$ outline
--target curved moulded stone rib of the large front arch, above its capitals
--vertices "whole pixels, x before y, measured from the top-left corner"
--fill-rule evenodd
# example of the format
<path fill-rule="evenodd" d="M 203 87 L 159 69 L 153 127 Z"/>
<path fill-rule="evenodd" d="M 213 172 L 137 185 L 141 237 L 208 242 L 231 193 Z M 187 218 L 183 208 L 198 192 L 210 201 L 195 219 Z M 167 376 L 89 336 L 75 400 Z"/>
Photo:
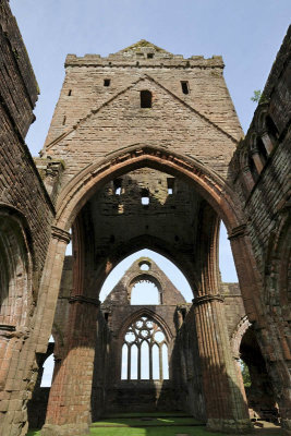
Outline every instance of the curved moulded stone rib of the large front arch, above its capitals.
<path fill-rule="evenodd" d="M 216 209 L 228 230 L 242 223 L 239 202 L 227 182 L 196 159 L 171 150 L 134 145 L 110 154 L 74 177 L 57 203 L 56 226 L 69 230 L 77 213 L 98 186 L 136 168 L 149 167 L 179 175 L 194 183 L 197 192 Z"/>

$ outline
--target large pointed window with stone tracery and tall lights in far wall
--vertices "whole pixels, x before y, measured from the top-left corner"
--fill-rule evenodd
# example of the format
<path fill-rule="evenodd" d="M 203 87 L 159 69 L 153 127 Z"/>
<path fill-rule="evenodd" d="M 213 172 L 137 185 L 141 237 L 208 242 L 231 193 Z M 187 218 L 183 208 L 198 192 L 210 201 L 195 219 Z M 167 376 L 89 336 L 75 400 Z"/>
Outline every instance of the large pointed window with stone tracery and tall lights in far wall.
<path fill-rule="evenodd" d="M 169 379 L 167 338 L 161 327 L 148 316 L 133 322 L 124 335 L 121 379 Z"/>

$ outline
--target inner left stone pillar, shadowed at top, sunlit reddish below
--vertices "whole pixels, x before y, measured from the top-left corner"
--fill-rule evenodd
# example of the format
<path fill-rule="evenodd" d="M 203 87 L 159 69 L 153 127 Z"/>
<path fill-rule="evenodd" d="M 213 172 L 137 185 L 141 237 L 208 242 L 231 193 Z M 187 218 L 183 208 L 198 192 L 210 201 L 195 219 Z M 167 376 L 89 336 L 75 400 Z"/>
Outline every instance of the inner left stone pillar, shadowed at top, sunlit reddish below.
<path fill-rule="evenodd" d="M 76 436 L 89 431 L 90 396 L 99 300 L 70 300 L 66 352 L 54 372 L 41 436 Z"/>

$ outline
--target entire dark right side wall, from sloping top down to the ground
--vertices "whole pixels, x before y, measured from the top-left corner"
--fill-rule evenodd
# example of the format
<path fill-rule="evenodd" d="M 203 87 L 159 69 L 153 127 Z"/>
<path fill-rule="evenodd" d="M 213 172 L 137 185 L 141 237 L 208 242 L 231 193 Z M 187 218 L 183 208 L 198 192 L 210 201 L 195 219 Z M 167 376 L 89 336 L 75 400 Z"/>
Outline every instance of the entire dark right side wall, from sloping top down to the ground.
<path fill-rule="evenodd" d="M 230 165 L 245 214 L 262 287 L 254 328 L 272 387 L 291 428 L 290 145 L 291 27 L 270 71 L 253 121 Z"/>

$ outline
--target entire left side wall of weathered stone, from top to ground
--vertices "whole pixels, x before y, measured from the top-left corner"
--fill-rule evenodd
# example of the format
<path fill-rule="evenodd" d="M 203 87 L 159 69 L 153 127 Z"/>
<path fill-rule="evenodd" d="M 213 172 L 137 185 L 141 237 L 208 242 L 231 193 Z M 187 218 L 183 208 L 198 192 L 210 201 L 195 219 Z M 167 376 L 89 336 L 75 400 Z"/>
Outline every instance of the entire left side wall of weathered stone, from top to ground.
<path fill-rule="evenodd" d="M 35 308 L 54 209 L 24 142 L 37 83 L 5 0 L 0 11 L 0 434 L 9 436 L 27 429 Z"/>

